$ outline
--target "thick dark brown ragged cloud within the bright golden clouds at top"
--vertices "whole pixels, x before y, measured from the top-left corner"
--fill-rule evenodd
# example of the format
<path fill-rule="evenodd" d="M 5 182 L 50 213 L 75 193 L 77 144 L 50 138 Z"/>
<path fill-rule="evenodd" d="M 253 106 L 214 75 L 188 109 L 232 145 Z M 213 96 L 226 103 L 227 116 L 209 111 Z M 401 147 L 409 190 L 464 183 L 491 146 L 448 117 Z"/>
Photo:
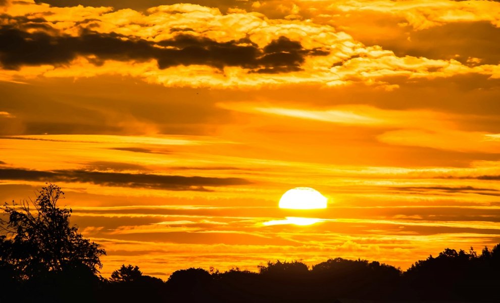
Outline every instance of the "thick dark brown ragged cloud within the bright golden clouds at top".
<path fill-rule="evenodd" d="M 28 33 L 12 27 L 0 28 L 0 63 L 6 69 L 23 65 L 68 64 L 77 56 L 103 60 L 146 61 L 155 59 L 160 69 L 177 65 L 208 65 L 215 68 L 239 66 L 258 73 L 301 70 L 306 56 L 323 56 L 321 49 L 304 49 L 302 44 L 280 37 L 263 49 L 249 39 L 217 42 L 180 34 L 158 43 L 125 39 L 110 33 L 84 31 L 79 37 Z"/>

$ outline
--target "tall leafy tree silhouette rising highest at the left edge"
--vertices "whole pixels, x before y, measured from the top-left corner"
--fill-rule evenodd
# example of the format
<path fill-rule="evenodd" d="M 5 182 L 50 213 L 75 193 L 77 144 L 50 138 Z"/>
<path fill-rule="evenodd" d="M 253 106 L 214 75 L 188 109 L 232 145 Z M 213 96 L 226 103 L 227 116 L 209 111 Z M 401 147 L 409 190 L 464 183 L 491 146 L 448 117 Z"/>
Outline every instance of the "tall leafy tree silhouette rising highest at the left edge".
<path fill-rule="evenodd" d="M 8 219 L 0 219 L 0 264 L 9 265 L 18 279 L 71 269 L 95 274 L 102 268 L 99 257 L 106 251 L 70 225 L 72 210 L 56 205 L 63 195 L 59 186 L 48 184 L 35 200 L 1 208 Z"/>

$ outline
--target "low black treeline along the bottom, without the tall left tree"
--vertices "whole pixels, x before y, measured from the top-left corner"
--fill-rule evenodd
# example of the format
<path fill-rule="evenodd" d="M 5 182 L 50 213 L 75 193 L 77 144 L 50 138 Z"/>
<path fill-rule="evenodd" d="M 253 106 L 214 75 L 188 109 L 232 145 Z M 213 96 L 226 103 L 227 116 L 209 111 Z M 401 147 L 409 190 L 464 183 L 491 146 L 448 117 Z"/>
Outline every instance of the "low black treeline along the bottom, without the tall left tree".
<path fill-rule="evenodd" d="M 500 245 L 474 251 L 445 249 L 406 272 L 366 260 L 330 259 L 308 268 L 302 262 L 269 262 L 259 272 L 189 268 L 163 280 L 132 265 L 111 278 L 69 268 L 27 280 L 0 269 L 2 302 L 498 302 Z"/>

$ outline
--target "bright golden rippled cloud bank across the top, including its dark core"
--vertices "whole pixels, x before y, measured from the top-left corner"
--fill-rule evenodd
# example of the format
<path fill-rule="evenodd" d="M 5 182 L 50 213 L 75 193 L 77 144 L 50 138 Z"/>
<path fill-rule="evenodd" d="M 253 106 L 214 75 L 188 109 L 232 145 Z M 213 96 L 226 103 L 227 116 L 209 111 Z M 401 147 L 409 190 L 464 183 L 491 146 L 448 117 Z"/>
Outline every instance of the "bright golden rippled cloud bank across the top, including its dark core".
<path fill-rule="evenodd" d="M 309 12 L 306 15 L 310 14 L 312 19 L 302 20 L 269 19 L 244 10 L 228 10 L 223 14 L 217 8 L 192 4 L 138 12 L 16 2 L 2 15 L 3 40 L 14 43 L 0 47 L 3 53 L 0 62 L 4 64 L 0 79 L 22 82 L 37 76 L 118 74 L 165 86 L 252 87 L 293 83 L 338 86 L 362 82 L 394 90 L 399 85 L 390 83 L 390 78 L 396 76 L 500 77 L 498 66 L 484 64 L 488 60 L 468 57 L 461 60 L 465 62 L 462 64 L 448 59 L 449 56 L 444 56 L 446 60 L 397 57 L 391 49 L 365 46 L 346 32 L 336 30 L 335 24 L 313 18 L 319 9 L 344 16 L 357 11 L 360 5 L 342 1 L 338 4 L 320 2 L 314 14 L 313 7 L 305 8 L 304 12 Z M 287 3 L 285 6 L 291 10 L 284 11 L 297 15 L 303 9 L 296 8 L 302 5 Z M 409 9 L 399 6 L 398 3 L 397 13 Z M 416 1 L 410 8 L 419 6 L 428 9 L 429 4 Z M 386 7 L 378 2 L 362 9 L 387 13 Z"/>

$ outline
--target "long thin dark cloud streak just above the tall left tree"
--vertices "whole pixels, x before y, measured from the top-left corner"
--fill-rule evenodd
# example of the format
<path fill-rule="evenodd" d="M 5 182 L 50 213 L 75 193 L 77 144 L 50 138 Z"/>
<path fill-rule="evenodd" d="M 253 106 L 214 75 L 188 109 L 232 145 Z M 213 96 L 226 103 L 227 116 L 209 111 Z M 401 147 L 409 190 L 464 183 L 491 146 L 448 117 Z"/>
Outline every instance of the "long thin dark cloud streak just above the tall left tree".
<path fill-rule="evenodd" d="M 37 171 L 26 169 L 0 169 L 0 180 L 80 182 L 104 186 L 195 191 L 207 191 L 203 186 L 244 185 L 250 183 L 248 180 L 241 178 L 185 177 L 85 170 Z"/>

